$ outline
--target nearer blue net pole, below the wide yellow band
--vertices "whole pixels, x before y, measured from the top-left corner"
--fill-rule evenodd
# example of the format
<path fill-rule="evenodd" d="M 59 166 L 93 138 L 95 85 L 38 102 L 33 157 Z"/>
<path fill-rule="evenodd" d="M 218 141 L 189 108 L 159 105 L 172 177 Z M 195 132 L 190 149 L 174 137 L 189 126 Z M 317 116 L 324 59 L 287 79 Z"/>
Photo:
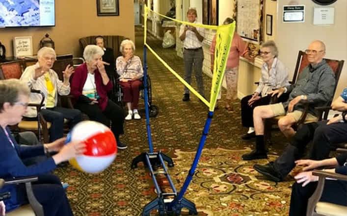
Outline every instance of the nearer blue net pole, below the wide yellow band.
<path fill-rule="evenodd" d="M 211 124 L 211 121 L 212 121 L 213 114 L 214 114 L 213 111 L 209 111 L 207 120 L 205 122 L 203 134 L 202 134 L 202 136 L 200 138 L 200 143 L 199 143 L 198 149 L 196 150 L 196 154 L 195 154 L 195 158 L 194 158 L 193 164 L 191 165 L 191 168 L 190 168 L 190 170 L 188 172 L 186 181 L 183 184 L 180 193 L 176 196 L 175 200 L 172 201 L 172 203 L 171 203 L 172 205 L 175 205 L 175 204 L 177 204 L 177 202 L 180 202 L 182 200 L 183 195 L 187 191 L 187 188 L 188 188 L 188 186 L 190 184 L 190 181 L 193 178 L 196 166 L 199 163 L 199 159 L 200 159 L 200 156 L 201 156 L 201 153 L 202 153 L 202 149 L 204 148 L 204 145 L 205 145 L 205 142 L 206 142 L 207 134 L 209 133 L 210 124 Z"/>

